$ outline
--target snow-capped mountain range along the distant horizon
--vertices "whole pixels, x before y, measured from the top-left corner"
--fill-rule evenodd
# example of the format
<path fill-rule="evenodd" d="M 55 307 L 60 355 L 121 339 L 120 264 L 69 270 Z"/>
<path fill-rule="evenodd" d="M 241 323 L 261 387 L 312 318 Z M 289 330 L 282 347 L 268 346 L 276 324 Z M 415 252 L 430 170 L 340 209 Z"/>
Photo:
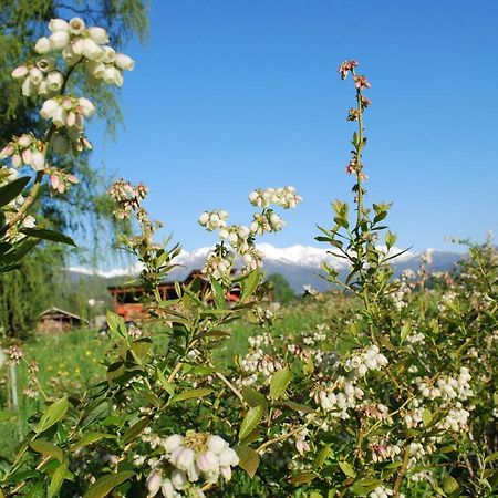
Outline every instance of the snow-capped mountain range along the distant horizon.
<path fill-rule="evenodd" d="M 291 246 L 287 248 L 277 248 L 270 243 L 261 243 L 257 246 L 262 255 L 263 268 L 267 274 L 281 273 L 295 292 L 301 292 L 304 284 L 310 284 L 318 290 L 325 290 L 330 287 L 329 282 L 323 280 L 320 274 L 320 269 L 323 261 L 338 270 L 340 273 L 345 273 L 347 270 L 346 262 L 338 258 L 326 249 L 310 247 L 310 246 Z M 206 255 L 209 248 L 204 247 L 193 251 L 181 251 L 176 258 L 175 262 L 178 268 L 173 270 L 170 278 L 175 280 L 184 279 L 191 270 L 203 268 Z M 393 253 L 400 252 L 394 249 Z M 428 250 L 432 256 L 432 263 L 429 268 L 436 270 L 449 270 L 453 266 L 465 257 L 458 252 L 443 252 L 436 250 Z M 406 251 L 400 257 L 392 260 L 395 272 L 398 273 L 405 269 L 416 270 L 421 263 L 422 252 Z M 115 279 L 118 277 L 133 277 L 139 272 L 139 266 L 128 268 L 115 268 L 112 270 L 100 271 L 91 270 L 84 267 L 72 267 L 70 271 L 73 274 L 98 274 L 105 279 Z"/>

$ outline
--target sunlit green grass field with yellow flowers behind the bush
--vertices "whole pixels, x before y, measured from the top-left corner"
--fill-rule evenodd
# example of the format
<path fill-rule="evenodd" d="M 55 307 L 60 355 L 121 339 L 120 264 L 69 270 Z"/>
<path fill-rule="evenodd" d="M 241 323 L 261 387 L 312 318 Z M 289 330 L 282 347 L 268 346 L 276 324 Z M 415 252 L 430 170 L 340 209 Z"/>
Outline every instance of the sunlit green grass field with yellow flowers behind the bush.
<path fill-rule="evenodd" d="M 272 332 L 291 336 L 293 333 L 311 330 L 323 321 L 333 320 L 334 307 L 320 302 L 313 303 L 315 312 L 310 313 L 310 303 L 295 301 L 282 307 L 274 322 Z M 231 336 L 225 340 L 219 349 L 217 361 L 229 365 L 236 355 L 243 355 L 247 351 L 247 339 L 261 333 L 258 325 L 248 322 L 237 322 L 230 328 Z M 167 347 L 167 342 L 160 332 L 152 332 L 155 347 Z M 59 398 L 63 394 L 75 395 L 86 387 L 105 378 L 106 366 L 104 360 L 113 355 L 113 341 L 101 336 L 95 329 L 77 329 L 64 334 L 33 335 L 22 344 L 25 362 L 15 367 L 18 376 L 19 414 L 14 419 L 0 422 L 0 458 L 8 458 L 13 454 L 20 435 L 29 432 L 29 418 L 41 408 L 39 398 L 31 398 L 23 394 L 29 383 L 28 363 L 37 361 L 43 392 L 50 398 Z M 0 412 L 11 412 L 8 392 L 9 367 L 3 366 L 0 372 Z"/>

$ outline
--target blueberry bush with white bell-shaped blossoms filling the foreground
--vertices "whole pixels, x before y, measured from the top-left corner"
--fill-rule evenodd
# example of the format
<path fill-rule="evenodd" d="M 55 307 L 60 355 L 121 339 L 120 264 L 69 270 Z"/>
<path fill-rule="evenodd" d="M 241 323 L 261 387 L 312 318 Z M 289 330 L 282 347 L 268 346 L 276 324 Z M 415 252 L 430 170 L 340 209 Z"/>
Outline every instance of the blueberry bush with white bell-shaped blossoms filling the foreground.
<path fill-rule="evenodd" d="M 91 81 L 121 85 L 121 71 L 133 68 L 129 58 L 106 45 L 100 28 L 87 29 L 81 19 L 53 20 L 49 28 L 52 34 L 35 50 L 61 52 L 66 76 L 84 64 Z M 283 187 L 249 195 L 258 210 L 247 225 L 229 225 L 225 210 L 203 212 L 199 225 L 216 231 L 218 240 L 201 274 L 177 284 L 174 299 L 165 300 L 159 283 L 180 248 L 155 240 L 162 225 L 143 207 L 147 188 L 116 181 L 108 190 L 115 216 L 134 220 L 138 229 L 121 242 L 142 263 L 149 321 L 144 330 L 128 329 L 108 313 L 105 381 L 80 396 L 48 400 L 13 461 L 1 469 L 4 492 L 86 498 L 111 492 L 166 498 L 496 494 L 497 251 L 490 243 L 471 246 L 454 274 L 429 274 L 427 255 L 417 273 L 394 278 L 390 261 L 400 252 L 384 225 L 390 205 L 365 203 L 364 112 L 371 102 L 363 92 L 371 84 L 356 74 L 357 66 L 346 61 L 339 69 L 343 80 L 351 74 L 356 93 L 356 106 L 347 113 L 357 129 L 346 166 L 354 178 L 355 214 L 335 200 L 333 226 L 320 228 L 317 238 L 349 262 L 344 281 L 323 266 L 345 298 L 309 292 L 308 302 L 292 312 L 317 317 L 317 323 L 298 333 L 274 332 L 280 310 L 264 297 L 255 241 L 282 229 L 276 209 L 301 201 L 294 188 Z M 14 167 L 32 167 L 38 184 L 50 172 L 52 188 L 63 191 L 74 179 L 51 170 L 40 154 L 50 144 L 59 152 L 87 147 L 84 117 L 94 108 L 84 97 L 63 95 L 66 76 L 58 86 L 54 68 L 45 61 L 14 71 L 14 77 L 24 79 L 24 93 L 50 96 L 41 113 L 51 126 L 44 141 L 23 135 L 2 155 L 11 156 Z M 15 224 L 25 222 L 22 206 Z M 4 231 L 11 240 L 25 231 L 13 227 Z M 258 332 L 245 354 L 222 361 L 237 323 Z M 11 362 L 21 357 L 19 351 L 8 354 Z M 30 388 L 39 388 L 34 366 Z"/>

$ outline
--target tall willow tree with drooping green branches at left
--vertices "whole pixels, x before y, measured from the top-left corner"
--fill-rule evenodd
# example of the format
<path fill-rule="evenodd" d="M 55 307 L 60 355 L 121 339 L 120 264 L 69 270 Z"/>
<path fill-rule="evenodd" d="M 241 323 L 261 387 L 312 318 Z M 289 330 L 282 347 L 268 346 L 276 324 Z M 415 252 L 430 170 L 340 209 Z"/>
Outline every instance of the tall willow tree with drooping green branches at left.
<path fill-rule="evenodd" d="M 147 0 L 2 0 L 0 9 L 0 146 L 12 136 L 29 129 L 42 133 L 43 124 L 37 112 L 35 97 L 21 94 L 19 81 L 10 77 L 19 61 L 34 55 L 30 48 L 53 18 L 82 17 L 89 23 L 101 25 L 110 33 L 113 46 L 122 48 L 132 38 L 141 42 L 148 33 Z M 75 77 L 72 81 L 86 81 Z M 76 90 L 76 89 L 73 89 Z M 90 95 L 103 111 L 108 135 L 122 122 L 118 110 L 118 90 L 108 85 L 86 85 L 79 89 Z M 1 147 L 0 147 L 1 148 Z M 110 179 L 90 164 L 90 153 L 49 158 L 56 166 L 74 174 L 79 188 L 63 197 L 42 195 L 37 205 L 37 219 L 50 219 L 51 228 L 73 234 L 85 234 L 86 242 L 95 243 L 102 234 L 114 231 L 111 208 L 104 196 Z M 82 251 L 80 251 L 82 253 Z M 0 330 L 7 335 L 29 331 L 38 313 L 54 304 L 61 288 L 62 267 L 68 250 L 45 245 L 28 257 L 19 270 L 0 276 Z M 24 304 L 21 304 L 24 303 Z M 28 304 L 27 304 L 28 303 Z"/>

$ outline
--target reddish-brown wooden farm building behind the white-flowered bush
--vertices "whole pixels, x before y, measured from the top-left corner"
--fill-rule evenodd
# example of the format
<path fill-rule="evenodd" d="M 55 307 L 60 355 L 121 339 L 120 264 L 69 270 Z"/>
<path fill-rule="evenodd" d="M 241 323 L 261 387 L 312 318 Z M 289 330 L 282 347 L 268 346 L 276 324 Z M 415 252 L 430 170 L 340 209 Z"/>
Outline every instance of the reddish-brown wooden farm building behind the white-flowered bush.
<path fill-rule="evenodd" d="M 203 292 L 206 292 L 209 288 L 207 279 L 203 276 L 200 270 L 193 270 L 186 277 L 183 284 L 189 284 L 194 280 L 198 279 Z M 177 293 L 175 289 L 176 281 L 164 281 L 159 284 L 159 293 L 163 300 L 176 299 Z M 113 301 L 114 312 L 122 315 L 125 320 L 139 319 L 144 314 L 144 308 L 142 305 L 142 298 L 144 295 L 144 288 L 142 284 L 128 284 L 128 286 L 112 286 L 107 288 Z M 240 290 L 234 289 L 227 293 L 227 302 L 235 302 L 239 300 Z"/>

